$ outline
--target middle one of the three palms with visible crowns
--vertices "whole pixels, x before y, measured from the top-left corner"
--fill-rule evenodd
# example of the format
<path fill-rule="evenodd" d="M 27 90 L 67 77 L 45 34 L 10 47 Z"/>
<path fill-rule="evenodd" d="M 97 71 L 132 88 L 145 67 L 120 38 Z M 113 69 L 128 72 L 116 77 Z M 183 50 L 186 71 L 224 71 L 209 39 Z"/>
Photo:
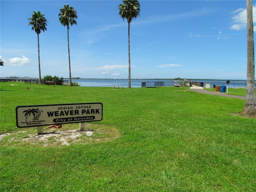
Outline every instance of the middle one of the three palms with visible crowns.
<path fill-rule="evenodd" d="M 68 29 L 68 64 L 69 64 L 69 86 L 72 86 L 71 82 L 71 66 L 70 66 L 70 51 L 69 51 L 69 25 L 76 24 L 76 10 L 70 7 L 68 4 L 64 5 L 64 8 L 60 9 L 59 20 L 63 26 L 67 26 Z"/>

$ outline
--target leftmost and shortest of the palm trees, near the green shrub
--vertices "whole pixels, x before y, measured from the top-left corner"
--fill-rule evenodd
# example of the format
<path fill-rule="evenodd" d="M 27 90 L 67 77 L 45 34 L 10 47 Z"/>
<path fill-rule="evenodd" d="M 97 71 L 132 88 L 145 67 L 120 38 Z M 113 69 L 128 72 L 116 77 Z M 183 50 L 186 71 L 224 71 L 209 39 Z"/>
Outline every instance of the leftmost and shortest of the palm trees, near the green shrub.
<path fill-rule="evenodd" d="M 34 11 L 31 18 L 28 18 L 28 25 L 32 25 L 32 30 L 35 30 L 37 34 L 37 44 L 38 44 L 38 68 L 39 68 L 39 82 L 38 84 L 42 84 L 41 79 L 41 69 L 40 69 L 40 51 L 39 51 L 39 34 L 41 30 L 44 32 L 47 30 L 47 20 L 40 11 Z"/>

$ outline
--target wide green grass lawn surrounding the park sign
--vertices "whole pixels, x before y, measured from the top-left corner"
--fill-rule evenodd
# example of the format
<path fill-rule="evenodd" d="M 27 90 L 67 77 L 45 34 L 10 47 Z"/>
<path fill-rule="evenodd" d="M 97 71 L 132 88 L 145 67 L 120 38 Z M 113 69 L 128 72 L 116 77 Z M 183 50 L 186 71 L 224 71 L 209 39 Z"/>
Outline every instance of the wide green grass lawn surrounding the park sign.
<path fill-rule="evenodd" d="M 86 123 L 94 134 L 69 145 L 36 140 L 36 127 L 16 127 L 17 106 L 89 102 L 102 102 L 103 120 Z M 187 87 L 1 82 L 0 105 L 1 192 L 256 190 L 256 119 L 239 116 L 244 100 Z M 56 131 L 74 129 L 79 124 Z M 26 140 L 31 134 L 36 142 Z"/>

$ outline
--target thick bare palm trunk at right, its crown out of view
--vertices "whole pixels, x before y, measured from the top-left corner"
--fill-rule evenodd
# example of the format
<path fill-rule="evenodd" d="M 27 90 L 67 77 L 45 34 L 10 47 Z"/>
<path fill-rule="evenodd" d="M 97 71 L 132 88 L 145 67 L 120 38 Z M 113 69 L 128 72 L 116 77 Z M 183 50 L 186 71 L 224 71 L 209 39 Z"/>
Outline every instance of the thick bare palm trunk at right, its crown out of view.
<path fill-rule="evenodd" d="M 246 10 L 247 10 L 247 89 L 246 89 L 246 102 L 242 110 L 242 115 L 256 118 L 252 0 L 246 0 Z"/>

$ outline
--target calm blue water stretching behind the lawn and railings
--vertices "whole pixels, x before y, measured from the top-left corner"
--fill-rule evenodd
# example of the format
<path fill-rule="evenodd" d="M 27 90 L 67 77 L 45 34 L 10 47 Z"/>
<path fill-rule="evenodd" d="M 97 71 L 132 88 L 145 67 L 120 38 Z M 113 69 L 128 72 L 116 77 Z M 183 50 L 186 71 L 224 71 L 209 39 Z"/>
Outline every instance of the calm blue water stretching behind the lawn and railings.
<path fill-rule="evenodd" d="M 69 79 L 64 79 L 68 81 Z M 189 80 L 187 80 L 189 81 Z M 226 80 L 193 80 L 194 82 L 203 82 L 204 87 L 206 84 L 210 84 L 210 87 L 216 86 L 226 86 Z M 77 82 L 83 87 L 113 87 L 114 85 L 123 85 L 127 88 L 128 79 L 72 79 L 72 82 Z M 131 87 L 139 88 L 142 87 L 142 82 L 164 82 L 164 86 L 173 86 L 177 84 L 178 81 L 174 80 L 154 80 L 154 79 L 131 79 Z M 230 86 L 232 84 L 246 84 L 246 80 L 230 80 Z"/>

